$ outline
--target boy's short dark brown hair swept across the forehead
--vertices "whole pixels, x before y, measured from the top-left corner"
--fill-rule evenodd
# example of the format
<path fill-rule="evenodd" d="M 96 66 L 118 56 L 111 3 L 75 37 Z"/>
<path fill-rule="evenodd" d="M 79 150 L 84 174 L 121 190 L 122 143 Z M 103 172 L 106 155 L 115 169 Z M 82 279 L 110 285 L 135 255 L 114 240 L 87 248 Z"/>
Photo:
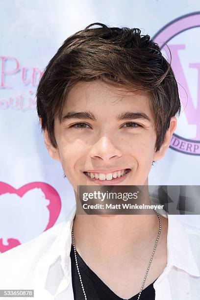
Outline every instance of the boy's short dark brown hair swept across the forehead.
<path fill-rule="evenodd" d="M 90 28 L 92 25 L 101 27 Z M 93 23 L 68 37 L 47 65 L 37 88 L 37 112 L 56 148 L 54 119 L 61 122 L 67 93 L 78 81 L 100 79 L 147 91 L 159 150 L 171 117 L 180 114 L 178 87 L 171 64 L 159 46 L 139 28 Z"/>

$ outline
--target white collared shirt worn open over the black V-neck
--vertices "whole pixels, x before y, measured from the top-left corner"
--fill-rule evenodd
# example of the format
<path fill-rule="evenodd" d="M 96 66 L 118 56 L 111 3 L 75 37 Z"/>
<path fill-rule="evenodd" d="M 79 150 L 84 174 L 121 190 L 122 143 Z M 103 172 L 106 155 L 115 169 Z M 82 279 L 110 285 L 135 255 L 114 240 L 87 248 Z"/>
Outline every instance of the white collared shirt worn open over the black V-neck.
<path fill-rule="evenodd" d="M 66 221 L 0 254 L 0 289 L 33 289 L 34 300 L 74 300 L 70 251 L 75 212 L 76 205 Z M 200 300 L 200 229 L 174 215 L 163 216 L 168 218 L 167 266 L 153 284 L 155 300 Z"/>

